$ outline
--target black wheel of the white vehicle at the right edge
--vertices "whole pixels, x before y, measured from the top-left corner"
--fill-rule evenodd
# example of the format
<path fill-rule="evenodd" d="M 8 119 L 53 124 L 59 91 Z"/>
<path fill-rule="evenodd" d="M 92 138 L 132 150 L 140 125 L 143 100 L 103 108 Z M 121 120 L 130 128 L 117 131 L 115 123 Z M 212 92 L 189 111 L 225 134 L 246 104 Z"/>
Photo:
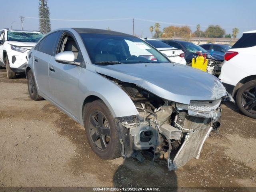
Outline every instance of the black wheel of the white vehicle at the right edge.
<path fill-rule="evenodd" d="M 236 103 L 243 114 L 256 119 L 256 80 L 249 81 L 239 88 Z"/>

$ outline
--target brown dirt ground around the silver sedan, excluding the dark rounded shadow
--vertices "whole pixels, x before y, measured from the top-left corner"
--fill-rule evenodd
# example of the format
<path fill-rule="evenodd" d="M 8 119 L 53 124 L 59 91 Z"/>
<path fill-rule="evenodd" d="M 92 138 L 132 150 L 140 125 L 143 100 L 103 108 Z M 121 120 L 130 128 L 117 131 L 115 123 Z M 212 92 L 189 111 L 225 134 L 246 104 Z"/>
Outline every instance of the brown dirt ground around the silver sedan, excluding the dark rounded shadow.
<path fill-rule="evenodd" d="M 100 159 L 84 128 L 50 102 L 31 100 L 26 82 L 0 70 L 0 186 L 256 187 L 256 120 L 235 104 L 222 105 L 222 127 L 210 134 L 200 159 L 170 172 L 164 160 L 151 166 L 151 158 Z"/>

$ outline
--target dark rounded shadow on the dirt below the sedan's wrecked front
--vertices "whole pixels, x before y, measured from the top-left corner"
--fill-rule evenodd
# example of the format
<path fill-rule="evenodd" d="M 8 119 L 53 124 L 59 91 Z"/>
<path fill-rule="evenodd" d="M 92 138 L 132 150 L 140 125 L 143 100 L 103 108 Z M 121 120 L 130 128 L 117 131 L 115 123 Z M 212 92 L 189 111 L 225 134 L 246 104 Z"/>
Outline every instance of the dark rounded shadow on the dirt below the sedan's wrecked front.
<path fill-rule="evenodd" d="M 164 160 L 155 160 L 152 165 L 151 158 L 146 158 L 144 162 L 126 158 L 114 172 L 113 184 L 114 187 L 121 188 L 142 187 L 142 190 L 152 188 L 152 191 L 153 188 L 160 188 L 160 191 L 176 192 L 178 188 L 175 171 L 168 171 Z"/>

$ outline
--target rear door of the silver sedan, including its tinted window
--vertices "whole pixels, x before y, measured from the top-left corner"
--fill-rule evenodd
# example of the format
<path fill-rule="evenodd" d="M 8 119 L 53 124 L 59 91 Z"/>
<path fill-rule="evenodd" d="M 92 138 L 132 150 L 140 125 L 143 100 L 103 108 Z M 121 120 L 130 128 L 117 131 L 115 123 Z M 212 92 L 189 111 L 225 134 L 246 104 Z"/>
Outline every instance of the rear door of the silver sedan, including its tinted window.
<path fill-rule="evenodd" d="M 33 56 L 34 60 L 34 76 L 38 90 L 42 93 L 42 96 L 50 98 L 50 87 L 49 87 L 49 62 L 54 54 L 56 42 L 60 37 L 60 32 L 54 32 L 42 40 L 40 40 L 38 50 Z M 35 48 L 36 49 L 36 48 Z"/>

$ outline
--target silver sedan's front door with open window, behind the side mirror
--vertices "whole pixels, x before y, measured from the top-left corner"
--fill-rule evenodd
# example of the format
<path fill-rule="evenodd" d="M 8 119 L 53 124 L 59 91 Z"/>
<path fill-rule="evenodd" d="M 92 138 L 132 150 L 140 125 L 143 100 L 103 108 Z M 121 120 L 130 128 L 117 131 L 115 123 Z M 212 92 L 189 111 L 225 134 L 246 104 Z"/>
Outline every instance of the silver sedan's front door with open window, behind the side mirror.
<path fill-rule="evenodd" d="M 60 38 L 56 54 L 64 51 L 72 51 L 75 54 L 75 62 L 82 62 L 82 54 L 74 36 L 64 32 Z M 78 118 L 79 107 L 77 94 L 81 67 L 73 64 L 56 62 L 54 57 L 49 65 L 49 80 L 52 100 L 69 114 Z"/>

